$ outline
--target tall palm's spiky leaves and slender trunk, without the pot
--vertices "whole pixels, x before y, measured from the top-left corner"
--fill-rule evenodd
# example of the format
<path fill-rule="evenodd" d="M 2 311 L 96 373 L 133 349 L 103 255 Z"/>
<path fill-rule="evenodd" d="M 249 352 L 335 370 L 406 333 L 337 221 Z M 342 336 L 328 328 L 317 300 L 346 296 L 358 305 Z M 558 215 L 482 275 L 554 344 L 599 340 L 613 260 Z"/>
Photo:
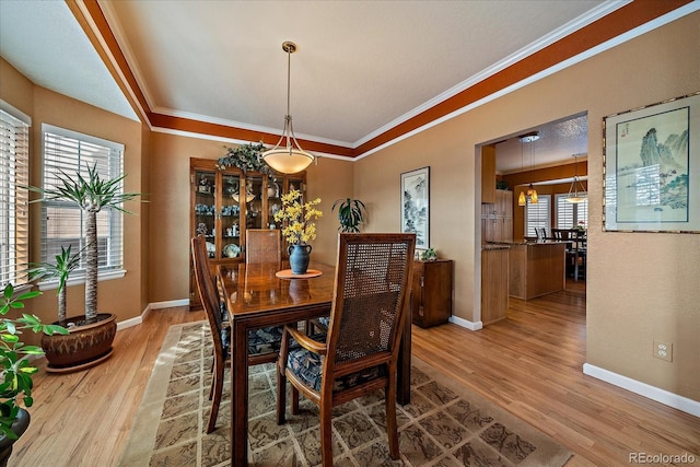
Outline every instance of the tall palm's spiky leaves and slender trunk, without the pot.
<path fill-rule="evenodd" d="M 70 201 L 85 214 L 85 320 L 89 323 L 97 318 L 97 213 L 104 208 L 116 209 L 131 213 L 122 208 L 125 201 L 130 201 L 140 192 L 121 192 L 121 182 L 125 175 L 110 179 L 102 179 L 97 172 L 97 164 L 88 166 L 88 176 L 78 171 L 74 176 L 61 171 L 58 183 L 54 188 L 28 187 L 30 190 L 43 195 L 35 201 L 63 200 Z"/>

